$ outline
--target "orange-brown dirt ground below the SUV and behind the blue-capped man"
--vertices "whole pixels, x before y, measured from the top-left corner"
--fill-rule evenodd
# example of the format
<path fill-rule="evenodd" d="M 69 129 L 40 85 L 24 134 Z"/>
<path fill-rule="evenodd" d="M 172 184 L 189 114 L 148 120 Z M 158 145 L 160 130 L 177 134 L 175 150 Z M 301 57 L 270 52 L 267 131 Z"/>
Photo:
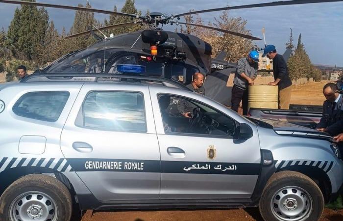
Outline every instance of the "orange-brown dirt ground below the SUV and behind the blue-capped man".
<path fill-rule="evenodd" d="M 291 104 L 322 105 L 326 82 L 307 83 L 292 89 Z M 175 210 L 148 212 L 98 212 L 88 210 L 82 221 L 262 221 L 257 208 L 224 210 Z M 343 210 L 325 209 L 320 221 L 343 221 Z"/>

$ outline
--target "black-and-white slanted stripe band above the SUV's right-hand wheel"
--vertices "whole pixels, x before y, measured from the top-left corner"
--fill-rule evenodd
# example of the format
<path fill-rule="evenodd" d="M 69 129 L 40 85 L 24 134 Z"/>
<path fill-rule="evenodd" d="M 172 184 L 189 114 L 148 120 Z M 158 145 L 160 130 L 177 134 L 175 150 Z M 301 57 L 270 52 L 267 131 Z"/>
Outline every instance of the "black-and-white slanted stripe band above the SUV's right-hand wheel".
<path fill-rule="evenodd" d="M 334 165 L 333 161 L 306 161 L 306 160 L 292 160 L 292 161 L 274 161 L 276 170 L 287 166 L 316 166 L 325 173 L 329 172 Z"/>

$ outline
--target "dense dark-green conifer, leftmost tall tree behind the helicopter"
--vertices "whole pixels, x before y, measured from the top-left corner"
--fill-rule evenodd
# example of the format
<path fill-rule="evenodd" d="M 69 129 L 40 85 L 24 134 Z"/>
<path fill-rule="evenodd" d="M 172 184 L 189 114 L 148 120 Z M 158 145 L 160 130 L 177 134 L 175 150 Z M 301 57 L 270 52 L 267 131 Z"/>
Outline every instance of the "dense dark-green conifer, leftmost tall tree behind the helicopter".
<path fill-rule="evenodd" d="M 31 0 L 35 1 L 35 0 Z M 44 8 L 22 5 L 15 14 L 7 32 L 6 44 L 15 57 L 35 60 L 38 46 L 43 43 L 49 15 Z"/>

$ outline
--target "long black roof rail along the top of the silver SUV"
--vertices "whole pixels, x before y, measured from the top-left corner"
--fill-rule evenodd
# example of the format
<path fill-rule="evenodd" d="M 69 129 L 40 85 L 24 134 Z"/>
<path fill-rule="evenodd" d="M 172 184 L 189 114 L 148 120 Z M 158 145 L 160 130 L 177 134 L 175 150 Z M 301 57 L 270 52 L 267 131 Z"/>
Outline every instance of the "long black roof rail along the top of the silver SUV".
<path fill-rule="evenodd" d="M 166 78 L 149 77 L 142 75 L 126 74 L 106 74 L 106 73 L 36 73 L 28 75 L 20 83 L 38 83 L 38 82 L 98 82 L 98 83 L 145 83 L 157 84 L 167 87 L 175 87 L 192 91 L 185 85 Z"/>

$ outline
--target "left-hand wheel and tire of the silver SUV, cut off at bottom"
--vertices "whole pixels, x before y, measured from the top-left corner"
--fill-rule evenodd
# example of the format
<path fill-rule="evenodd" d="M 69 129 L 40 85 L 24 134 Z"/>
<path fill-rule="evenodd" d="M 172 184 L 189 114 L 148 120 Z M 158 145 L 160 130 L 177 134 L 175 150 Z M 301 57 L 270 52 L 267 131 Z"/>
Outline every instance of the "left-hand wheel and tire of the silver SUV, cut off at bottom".
<path fill-rule="evenodd" d="M 72 197 L 59 180 L 42 174 L 13 182 L 0 197 L 0 220 L 70 221 Z"/>

